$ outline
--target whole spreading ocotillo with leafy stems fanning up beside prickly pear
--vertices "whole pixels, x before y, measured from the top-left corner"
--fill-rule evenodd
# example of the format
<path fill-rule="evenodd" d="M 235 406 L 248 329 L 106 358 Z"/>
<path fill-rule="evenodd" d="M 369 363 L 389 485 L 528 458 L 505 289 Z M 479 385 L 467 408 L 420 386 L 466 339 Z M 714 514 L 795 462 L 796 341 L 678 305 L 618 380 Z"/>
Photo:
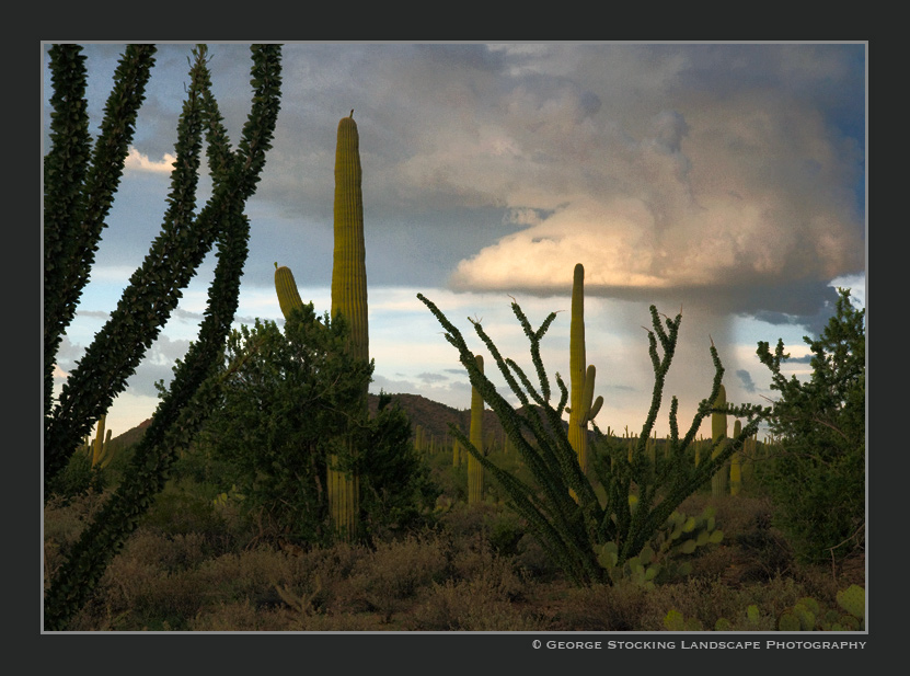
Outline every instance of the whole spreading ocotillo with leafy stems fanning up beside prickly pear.
<path fill-rule="evenodd" d="M 486 345 L 509 388 L 522 404 L 515 409 L 493 382 L 477 368 L 474 355 L 468 348 L 459 330 L 427 298 L 418 298 L 429 308 L 446 329 L 446 339 L 459 352 L 461 364 L 468 369 L 471 385 L 483 396 L 502 422 L 509 440 L 518 449 L 534 481 L 525 482 L 503 470 L 475 447 L 457 427 L 452 434 L 477 458 L 485 469 L 502 484 L 509 496 L 509 504 L 528 522 L 528 527 L 553 561 L 576 584 L 609 583 L 606 569 L 598 562 L 597 549 L 608 542 L 617 547 L 614 565 L 623 565 L 638 554 L 654 535 L 665 526 L 676 507 L 699 486 L 710 480 L 729 456 L 741 448 L 745 439 L 753 434 L 764 409 L 755 405 L 727 406 L 725 411 L 747 419 L 741 435 L 730 439 L 716 457 L 694 466 L 688 449 L 695 440 L 702 421 L 711 415 L 713 402 L 721 387 L 724 368 L 717 351 L 711 346 L 715 375 L 710 397 L 699 404 L 692 425 L 680 437 L 677 425 L 676 398 L 670 405 L 670 438 L 665 456 L 652 462 L 645 452 L 660 408 L 664 381 L 676 348 L 681 316 L 661 323 L 656 308 L 652 307 L 654 330 L 648 331 L 649 354 L 655 373 L 652 405 L 642 428 L 637 447 L 631 457 L 627 449 L 608 448 L 610 462 L 598 473 L 606 492 L 603 502 L 595 491 L 595 484 L 581 470 L 576 452 L 569 444 L 563 425 L 563 414 L 568 392 L 556 375 L 561 392 L 558 403 L 550 402 L 550 382 L 540 356 L 540 341 L 555 319 L 551 313 L 538 330 L 532 329 L 517 302 L 512 311 L 530 342 L 531 358 L 537 370 L 539 387 L 510 358 L 504 357 L 484 332 L 480 322 L 472 322 L 477 335 Z M 658 341 L 663 356 L 658 354 Z M 637 492 L 633 508 L 630 496 Z"/>

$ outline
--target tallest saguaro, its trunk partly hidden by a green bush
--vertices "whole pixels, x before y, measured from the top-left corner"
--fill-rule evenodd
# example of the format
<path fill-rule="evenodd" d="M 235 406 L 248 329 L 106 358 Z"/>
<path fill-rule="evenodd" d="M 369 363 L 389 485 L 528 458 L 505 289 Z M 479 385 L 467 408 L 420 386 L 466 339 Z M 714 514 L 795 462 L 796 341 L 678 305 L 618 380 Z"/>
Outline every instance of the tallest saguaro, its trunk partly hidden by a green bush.
<path fill-rule="evenodd" d="M 354 357 L 369 362 L 367 321 L 367 254 L 364 239 L 360 136 L 354 111 L 338 122 L 335 148 L 335 251 L 332 265 L 332 317 L 344 316 L 350 326 L 349 350 Z M 367 412 L 364 391 L 362 413 Z M 349 440 L 347 442 L 350 443 Z M 330 458 L 329 500 L 339 535 L 350 538 L 357 529 L 359 481 L 356 474 L 336 471 Z"/>

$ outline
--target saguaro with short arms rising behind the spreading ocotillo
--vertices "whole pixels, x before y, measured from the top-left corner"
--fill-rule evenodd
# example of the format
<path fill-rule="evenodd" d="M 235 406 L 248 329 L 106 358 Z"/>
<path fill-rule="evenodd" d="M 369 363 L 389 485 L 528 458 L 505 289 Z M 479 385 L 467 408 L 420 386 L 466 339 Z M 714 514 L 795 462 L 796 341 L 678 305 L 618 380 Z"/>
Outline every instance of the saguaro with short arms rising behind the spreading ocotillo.
<path fill-rule="evenodd" d="M 572 323 L 569 324 L 571 397 L 568 413 L 568 443 L 578 455 L 581 471 L 588 471 L 588 423 L 603 405 L 603 398 L 594 400 L 596 370 L 586 365 L 585 353 L 585 267 L 575 266 L 572 284 Z"/>

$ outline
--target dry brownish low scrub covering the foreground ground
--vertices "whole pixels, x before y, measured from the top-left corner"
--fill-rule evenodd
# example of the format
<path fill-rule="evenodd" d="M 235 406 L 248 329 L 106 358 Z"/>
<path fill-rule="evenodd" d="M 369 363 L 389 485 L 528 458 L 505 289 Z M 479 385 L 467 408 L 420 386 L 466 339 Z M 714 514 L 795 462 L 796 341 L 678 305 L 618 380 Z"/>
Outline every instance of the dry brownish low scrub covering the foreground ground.
<path fill-rule="evenodd" d="M 389 539 L 369 548 L 338 542 L 289 551 L 257 542 L 255 525 L 244 524 L 235 509 L 212 506 L 207 489 L 169 481 L 70 629 L 141 631 L 164 629 L 166 622 L 185 631 L 655 632 L 666 629 L 663 619 L 673 608 L 707 630 L 716 628 L 717 618 L 727 618 L 732 631 L 774 631 L 777 619 L 805 597 L 823 608 L 819 617 L 825 621 L 838 610 L 844 628 L 843 616 L 865 606 L 860 589 L 845 588 L 864 586 L 860 571 L 839 582 L 827 565 L 761 580 L 733 577 L 705 561 L 709 552 L 694 558 L 692 574 L 678 583 L 653 589 L 633 584 L 572 588 L 539 548 L 522 551 L 519 545 L 512 552 L 496 547 L 503 531 L 523 526 L 505 506 L 491 503 L 470 509 L 458 505 L 436 529 L 394 538 L 402 547 Z M 49 571 L 102 501 L 103 495 L 91 493 L 48 502 L 44 541 Z M 683 507 L 696 514 L 706 502 L 714 504 L 693 496 Z M 727 532 L 746 535 L 765 508 L 764 501 L 726 496 L 717 503 L 717 517 Z M 741 549 L 736 540 L 725 538 L 724 549 L 734 550 L 740 565 L 760 565 L 763 552 Z M 522 543 L 537 545 L 530 537 Z M 445 568 L 439 568 L 440 552 Z M 542 565 L 531 564 L 531 554 Z M 364 592 L 411 575 L 404 568 L 425 571 L 428 565 L 437 571 L 431 578 L 423 577 L 410 594 L 387 597 L 398 607 L 383 623 Z"/>

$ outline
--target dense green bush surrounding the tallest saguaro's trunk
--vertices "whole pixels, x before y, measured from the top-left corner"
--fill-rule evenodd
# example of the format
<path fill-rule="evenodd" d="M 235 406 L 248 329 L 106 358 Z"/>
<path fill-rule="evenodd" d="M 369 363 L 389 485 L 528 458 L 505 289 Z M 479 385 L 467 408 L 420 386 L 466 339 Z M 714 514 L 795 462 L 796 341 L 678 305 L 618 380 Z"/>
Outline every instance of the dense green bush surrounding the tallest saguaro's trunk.
<path fill-rule="evenodd" d="M 330 457 L 338 471 L 360 474 L 361 507 L 372 527 L 407 520 L 421 504 L 410 422 L 388 398 L 373 419 L 366 415 L 362 392 L 372 365 L 345 350 L 347 340 L 343 316 L 319 318 L 308 303 L 290 313 L 284 332 L 257 320 L 228 341 L 224 369 L 240 367 L 221 382 L 194 455 L 207 459 L 208 481 L 233 488 L 241 511 L 283 540 L 333 539 Z M 360 443 L 343 443 L 341 432 Z"/>

